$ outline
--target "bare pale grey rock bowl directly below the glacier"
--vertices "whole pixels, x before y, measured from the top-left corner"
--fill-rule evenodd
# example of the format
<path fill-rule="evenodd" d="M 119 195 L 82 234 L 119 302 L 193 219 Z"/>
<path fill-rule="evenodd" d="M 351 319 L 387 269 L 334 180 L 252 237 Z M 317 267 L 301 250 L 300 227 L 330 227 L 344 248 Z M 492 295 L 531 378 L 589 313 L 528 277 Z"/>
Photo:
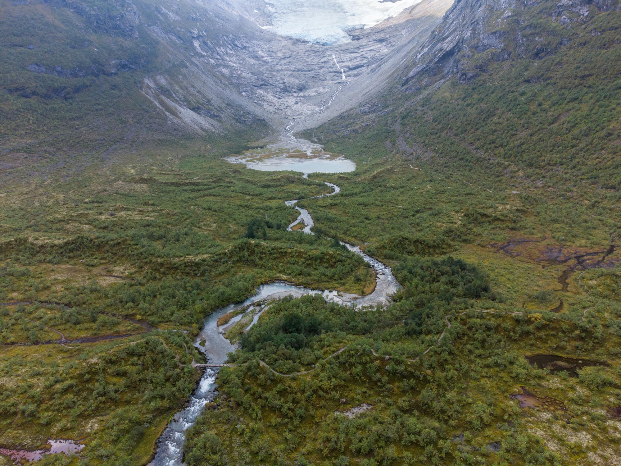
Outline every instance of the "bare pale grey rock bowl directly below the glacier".
<path fill-rule="evenodd" d="M 162 111 L 174 107 L 170 119 L 194 130 L 221 129 L 230 107 L 279 131 L 289 122 L 293 131 L 317 126 L 378 92 L 448 5 L 449 0 L 424 1 L 333 46 L 262 29 L 268 21 L 261 10 L 265 2 L 185 0 L 157 6 L 158 24 L 147 24 L 146 30 L 163 44 L 171 62 L 183 45 L 186 68 L 150 76 L 143 92 Z M 187 101 L 193 105 L 186 106 Z M 210 114 L 220 120 L 214 122 Z"/>

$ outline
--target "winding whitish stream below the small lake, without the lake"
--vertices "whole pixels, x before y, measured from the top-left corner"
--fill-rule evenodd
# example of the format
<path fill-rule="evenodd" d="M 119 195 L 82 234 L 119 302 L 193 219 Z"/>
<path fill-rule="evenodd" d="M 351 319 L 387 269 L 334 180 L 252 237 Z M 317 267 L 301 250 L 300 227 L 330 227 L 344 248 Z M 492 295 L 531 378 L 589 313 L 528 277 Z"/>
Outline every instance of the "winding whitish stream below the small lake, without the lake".
<path fill-rule="evenodd" d="M 303 176 L 308 179 L 308 173 L 304 173 Z M 325 185 L 329 186 L 332 192 L 313 196 L 311 199 L 325 198 L 340 193 L 340 188 L 337 185 L 333 185 L 332 183 L 325 183 Z M 312 216 L 307 209 L 296 206 L 296 203 L 300 200 L 301 199 L 294 199 L 286 201 L 288 206 L 295 208 L 299 212 L 299 216 L 296 221 L 288 227 L 288 231 L 292 231 L 292 228 L 296 224 L 303 224 L 304 228 L 300 231 L 304 234 L 312 235 L 314 234 L 311 230 L 314 226 Z M 297 298 L 304 295 L 321 295 L 326 301 L 341 304 L 342 306 L 351 306 L 353 304 L 356 304 L 356 306 L 376 306 L 378 304 L 380 306 L 386 306 L 386 304 L 390 302 L 390 297 L 401 288 L 399 282 L 397 282 L 394 275 L 392 275 L 391 268 L 368 254 L 365 254 L 358 246 L 345 242 L 340 243 L 345 245 L 345 247 L 354 254 L 358 254 L 371 268 L 373 268 L 376 281 L 373 293 L 366 296 L 359 296 L 349 293 L 337 293 L 337 291 L 334 290 L 313 290 L 312 288 L 305 288 L 304 286 L 296 286 L 285 282 L 261 285 L 256 289 L 256 295 L 252 296 L 252 298 L 246 299 L 243 303 L 225 306 L 207 317 L 194 346 L 206 355 L 207 362 L 210 365 L 224 365 L 227 360 L 227 355 L 230 352 L 234 352 L 236 347 L 224 337 L 225 329 L 218 326 L 218 319 L 224 316 L 224 314 L 248 307 L 246 312 L 254 312 L 255 319 L 253 319 L 253 322 L 247 327 L 247 331 L 256 323 L 258 316 L 263 313 L 272 301 L 284 298 L 285 296 L 294 296 Z M 241 316 L 238 316 L 238 318 L 241 318 Z M 238 320 L 238 318 L 233 319 L 232 322 Z M 228 325 L 230 326 L 230 323 Z M 196 419 L 202 413 L 205 405 L 214 399 L 216 377 L 217 368 L 207 367 L 188 406 L 175 414 L 160 437 L 155 457 L 152 462 L 150 462 L 149 466 L 183 465 L 184 432 L 196 422 Z"/>

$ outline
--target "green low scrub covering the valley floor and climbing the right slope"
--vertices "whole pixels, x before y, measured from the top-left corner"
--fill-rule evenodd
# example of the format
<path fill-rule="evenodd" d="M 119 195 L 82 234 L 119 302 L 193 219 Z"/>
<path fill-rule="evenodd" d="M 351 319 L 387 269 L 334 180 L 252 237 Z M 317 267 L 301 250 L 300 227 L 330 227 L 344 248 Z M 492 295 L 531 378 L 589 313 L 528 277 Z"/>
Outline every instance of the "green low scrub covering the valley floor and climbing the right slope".
<path fill-rule="evenodd" d="M 248 144 L 260 123 L 207 142 L 120 144 L 110 161 L 131 112 L 106 117 L 105 147 L 72 128 L 133 75 L 76 79 L 76 104 L 56 119 L 58 96 L 39 94 L 58 76 L 34 88 L 33 71 L 3 68 L 17 83 L 0 96 L 3 134 L 42 165 L 2 168 L 0 447 L 74 439 L 78 458 L 39 464 L 147 464 L 201 377 L 193 343 L 215 309 L 274 280 L 371 291 L 371 270 L 340 239 L 391 265 L 394 302 L 284 298 L 248 332 L 230 329 L 241 349 L 219 372 L 216 409 L 188 431 L 188 465 L 621 463 L 619 12 L 591 7 L 561 28 L 551 6 L 530 10 L 545 24 L 535 13 L 520 24 L 532 40 L 552 30 L 541 39 L 553 53 L 507 42 L 511 60 L 469 57 L 466 82 L 399 90 L 378 112 L 306 134 L 357 164 L 310 180 L 220 160 L 262 146 Z M 2 57 L 15 65 L 27 45 Z M 81 162 L 61 173 L 72 140 Z M 340 194 L 309 199 L 322 181 Z M 286 231 L 288 199 L 303 199 L 315 235 Z M 537 354 L 597 364 L 552 370 L 525 358 Z"/>

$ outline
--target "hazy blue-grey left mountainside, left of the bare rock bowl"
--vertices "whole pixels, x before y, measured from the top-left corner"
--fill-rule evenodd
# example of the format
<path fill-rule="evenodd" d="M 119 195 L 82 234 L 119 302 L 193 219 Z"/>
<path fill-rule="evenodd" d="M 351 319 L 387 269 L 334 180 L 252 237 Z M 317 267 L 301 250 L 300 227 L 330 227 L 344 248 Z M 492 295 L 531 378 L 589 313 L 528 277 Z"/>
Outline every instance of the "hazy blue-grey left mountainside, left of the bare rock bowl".
<path fill-rule="evenodd" d="M 227 60 L 227 48 L 245 48 L 238 31 L 260 30 L 223 4 L 2 1 L 3 137 L 57 137 L 84 124 L 106 128 L 104 146 L 129 130 L 175 136 L 265 126 L 261 109 L 203 58 L 203 39 Z"/>

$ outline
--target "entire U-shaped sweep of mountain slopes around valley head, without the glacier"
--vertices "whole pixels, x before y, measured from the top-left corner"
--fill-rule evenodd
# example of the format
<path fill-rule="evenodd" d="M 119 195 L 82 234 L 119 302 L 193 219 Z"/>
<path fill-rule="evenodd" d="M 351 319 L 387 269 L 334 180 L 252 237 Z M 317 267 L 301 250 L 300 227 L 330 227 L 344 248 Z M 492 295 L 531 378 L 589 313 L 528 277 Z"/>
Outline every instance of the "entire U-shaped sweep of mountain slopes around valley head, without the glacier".
<path fill-rule="evenodd" d="M 619 2 L 450 4 L 322 46 L 264 29 L 260 1 L 2 0 L 0 168 L 76 170 L 179 138 L 234 152 L 330 121 L 315 135 L 406 155 L 493 152 L 515 172 L 598 178 L 583 163 L 597 155 L 602 186 L 616 186 L 619 99 L 605 96 L 619 94 Z"/>

